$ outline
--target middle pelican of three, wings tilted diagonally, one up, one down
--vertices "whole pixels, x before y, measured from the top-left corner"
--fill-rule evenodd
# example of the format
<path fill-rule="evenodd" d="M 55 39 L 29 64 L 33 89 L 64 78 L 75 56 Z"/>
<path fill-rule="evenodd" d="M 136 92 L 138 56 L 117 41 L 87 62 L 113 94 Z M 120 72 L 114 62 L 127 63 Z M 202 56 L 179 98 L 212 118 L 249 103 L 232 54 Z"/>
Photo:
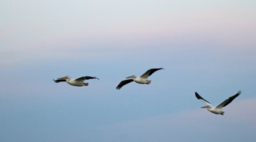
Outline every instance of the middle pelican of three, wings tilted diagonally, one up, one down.
<path fill-rule="evenodd" d="M 148 76 L 152 75 L 153 73 L 155 73 L 156 71 L 158 71 L 160 69 L 163 69 L 163 68 L 161 67 L 161 68 L 148 69 L 143 75 L 141 75 L 138 78 L 135 75 L 128 76 L 127 78 L 132 78 L 132 79 L 123 80 L 122 82 L 120 82 L 117 85 L 116 89 L 119 90 L 124 85 L 126 85 L 130 82 L 136 82 L 136 83 L 139 83 L 139 84 L 148 84 L 149 85 L 151 83 L 151 80 L 148 80 Z"/>

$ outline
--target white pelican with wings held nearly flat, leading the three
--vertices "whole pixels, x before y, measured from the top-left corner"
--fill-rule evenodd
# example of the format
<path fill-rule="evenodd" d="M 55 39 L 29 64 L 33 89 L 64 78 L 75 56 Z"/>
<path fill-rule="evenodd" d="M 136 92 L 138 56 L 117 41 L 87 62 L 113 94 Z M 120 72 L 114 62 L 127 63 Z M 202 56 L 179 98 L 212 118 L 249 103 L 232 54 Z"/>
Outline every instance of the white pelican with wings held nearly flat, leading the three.
<path fill-rule="evenodd" d="M 91 77 L 91 76 L 83 76 L 81 78 L 77 78 L 76 80 L 72 80 L 70 76 L 64 76 L 62 78 L 57 78 L 57 80 L 53 80 L 55 83 L 59 82 L 67 82 L 68 84 L 72 86 L 82 87 L 82 86 L 88 86 L 89 83 L 84 83 L 84 80 L 90 80 L 90 79 L 98 79 L 97 77 Z"/>

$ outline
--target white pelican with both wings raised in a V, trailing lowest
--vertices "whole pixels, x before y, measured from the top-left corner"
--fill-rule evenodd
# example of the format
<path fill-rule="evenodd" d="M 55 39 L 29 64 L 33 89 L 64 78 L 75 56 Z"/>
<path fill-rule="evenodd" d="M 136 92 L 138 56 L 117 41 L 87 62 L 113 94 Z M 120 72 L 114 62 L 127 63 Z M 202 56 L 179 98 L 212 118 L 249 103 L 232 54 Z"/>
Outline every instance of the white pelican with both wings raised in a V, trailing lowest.
<path fill-rule="evenodd" d="M 207 104 L 207 106 L 202 106 L 201 108 L 207 108 L 208 111 L 211 111 L 212 113 L 215 113 L 217 115 L 224 115 L 225 111 L 221 111 L 221 109 L 227 106 L 229 103 L 231 103 L 240 94 L 241 94 L 241 90 L 239 90 L 236 95 L 228 97 L 228 99 L 220 103 L 218 106 L 213 106 L 211 103 L 206 101 L 203 97 L 201 97 L 197 92 L 195 92 L 196 98 L 204 102 L 205 104 Z"/>

